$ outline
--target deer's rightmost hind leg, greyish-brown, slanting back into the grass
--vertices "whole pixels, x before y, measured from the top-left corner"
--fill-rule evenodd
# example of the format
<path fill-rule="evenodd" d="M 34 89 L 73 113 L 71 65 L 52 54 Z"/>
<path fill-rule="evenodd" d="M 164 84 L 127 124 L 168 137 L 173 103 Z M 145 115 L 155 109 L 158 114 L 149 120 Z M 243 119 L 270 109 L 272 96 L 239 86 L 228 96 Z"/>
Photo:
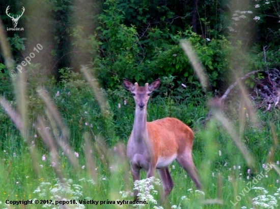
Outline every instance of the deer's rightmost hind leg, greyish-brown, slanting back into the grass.
<path fill-rule="evenodd" d="M 192 179 L 197 189 L 202 189 L 198 170 L 192 161 L 191 151 L 185 150 L 185 152 L 178 156 L 176 160 L 187 171 L 189 177 Z"/>

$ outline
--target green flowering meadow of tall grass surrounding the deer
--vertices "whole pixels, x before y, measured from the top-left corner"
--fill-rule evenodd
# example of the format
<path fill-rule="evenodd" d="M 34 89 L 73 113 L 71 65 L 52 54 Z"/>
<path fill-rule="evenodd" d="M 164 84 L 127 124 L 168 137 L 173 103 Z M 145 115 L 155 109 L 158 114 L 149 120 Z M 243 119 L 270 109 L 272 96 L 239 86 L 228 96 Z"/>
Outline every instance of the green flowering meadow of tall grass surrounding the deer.
<path fill-rule="evenodd" d="M 197 97 L 182 87 L 185 99 L 177 99 L 164 79 L 148 103 L 148 121 L 175 117 L 193 129 L 192 155 L 204 190 L 196 190 L 173 162 L 175 187 L 167 203 L 159 204 L 158 175 L 145 180 L 143 171 L 143 181 L 135 186 L 147 204 L 125 204 L 133 200 L 125 147 L 134 101 L 121 84 L 96 92 L 97 80 L 83 72 L 86 79 L 67 69 L 59 84 L 49 81 L 44 89 L 25 85 L 19 74 L 16 99 L 1 98 L 1 208 L 278 208 L 278 108 L 256 111 L 253 121 L 242 98 L 232 99 L 225 113 L 218 111 L 202 125 L 207 95 Z M 33 204 L 10 202 L 19 200 Z"/>

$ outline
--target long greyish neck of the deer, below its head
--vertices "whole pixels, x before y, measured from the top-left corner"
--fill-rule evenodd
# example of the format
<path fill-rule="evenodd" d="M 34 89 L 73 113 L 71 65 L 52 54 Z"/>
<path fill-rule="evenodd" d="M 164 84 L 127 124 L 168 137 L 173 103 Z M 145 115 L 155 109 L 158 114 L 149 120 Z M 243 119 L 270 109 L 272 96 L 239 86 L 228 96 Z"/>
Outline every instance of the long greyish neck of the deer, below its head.
<path fill-rule="evenodd" d="M 148 138 L 146 108 L 144 110 L 136 108 L 132 135 L 136 142 L 143 142 L 146 138 Z"/>

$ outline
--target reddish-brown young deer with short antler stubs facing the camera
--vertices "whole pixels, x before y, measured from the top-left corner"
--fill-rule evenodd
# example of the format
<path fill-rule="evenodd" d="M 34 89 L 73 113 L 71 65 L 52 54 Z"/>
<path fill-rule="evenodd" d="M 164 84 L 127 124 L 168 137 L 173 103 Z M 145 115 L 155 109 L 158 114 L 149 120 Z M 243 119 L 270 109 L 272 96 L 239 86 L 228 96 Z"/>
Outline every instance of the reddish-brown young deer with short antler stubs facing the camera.
<path fill-rule="evenodd" d="M 162 202 L 174 187 L 169 165 L 176 159 L 200 190 L 202 185 L 191 154 L 194 136 L 191 128 L 179 119 L 170 117 L 147 122 L 147 103 L 151 93 L 159 87 L 160 79 L 139 86 L 124 78 L 123 85 L 131 92 L 136 106 L 126 153 L 133 182 L 139 181 L 141 169 L 146 171 L 147 178 L 153 177 L 157 169 L 163 186 Z M 137 195 L 138 191 L 135 190 L 135 199 L 138 199 Z"/>

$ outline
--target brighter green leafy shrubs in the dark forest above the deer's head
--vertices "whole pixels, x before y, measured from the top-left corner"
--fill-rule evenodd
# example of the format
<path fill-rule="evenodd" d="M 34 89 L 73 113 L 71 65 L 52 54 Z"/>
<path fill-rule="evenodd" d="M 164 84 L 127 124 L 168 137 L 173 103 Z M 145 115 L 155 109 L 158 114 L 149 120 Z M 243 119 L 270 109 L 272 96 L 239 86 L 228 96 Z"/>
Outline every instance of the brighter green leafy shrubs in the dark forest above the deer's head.
<path fill-rule="evenodd" d="M 170 75 L 187 78 L 190 83 L 197 81 L 189 61 L 178 46 L 180 39 L 188 39 L 193 44 L 214 87 L 218 80 L 225 77 L 223 72 L 229 65 L 225 60 L 230 48 L 225 37 L 208 42 L 191 30 L 172 34 L 157 27 L 149 28 L 147 36 L 141 36 L 135 26 L 123 24 L 123 5 L 114 1 L 107 1 L 105 5 L 108 9 L 100 15 L 101 26 L 97 28 L 102 32 L 98 75 L 109 88 L 116 87 L 124 77 L 138 82 Z"/>

